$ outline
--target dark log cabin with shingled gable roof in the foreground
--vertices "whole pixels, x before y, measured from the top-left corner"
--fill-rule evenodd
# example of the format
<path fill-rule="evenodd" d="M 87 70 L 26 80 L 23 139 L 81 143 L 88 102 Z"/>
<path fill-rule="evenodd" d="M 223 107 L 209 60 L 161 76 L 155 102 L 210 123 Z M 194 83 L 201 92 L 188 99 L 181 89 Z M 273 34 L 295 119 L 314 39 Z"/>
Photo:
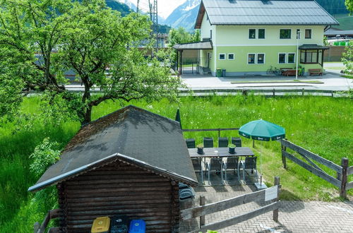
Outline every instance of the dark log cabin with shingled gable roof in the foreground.
<path fill-rule="evenodd" d="M 83 126 L 28 190 L 56 185 L 56 232 L 90 232 L 114 215 L 179 232 L 179 182 L 198 184 L 179 122 L 130 105 Z"/>

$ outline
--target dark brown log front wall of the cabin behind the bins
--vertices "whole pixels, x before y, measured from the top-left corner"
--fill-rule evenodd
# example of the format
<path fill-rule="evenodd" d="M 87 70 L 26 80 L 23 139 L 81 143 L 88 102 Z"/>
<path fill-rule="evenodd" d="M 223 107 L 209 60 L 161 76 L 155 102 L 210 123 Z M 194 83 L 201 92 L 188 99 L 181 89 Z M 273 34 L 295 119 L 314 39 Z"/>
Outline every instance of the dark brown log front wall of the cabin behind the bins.
<path fill-rule="evenodd" d="M 143 219 L 148 232 L 179 231 L 178 183 L 123 162 L 60 184 L 61 230 L 90 232 L 96 217 Z"/>

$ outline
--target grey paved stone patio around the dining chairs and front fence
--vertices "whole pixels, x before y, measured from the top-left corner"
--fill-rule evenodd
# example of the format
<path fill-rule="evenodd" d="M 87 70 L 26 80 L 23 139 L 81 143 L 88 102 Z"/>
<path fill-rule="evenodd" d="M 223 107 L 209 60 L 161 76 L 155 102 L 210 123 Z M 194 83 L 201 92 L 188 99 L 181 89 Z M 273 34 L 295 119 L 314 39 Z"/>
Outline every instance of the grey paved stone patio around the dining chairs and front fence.
<path fill-rule="evenodd" d="M 228 174 L 232 174 L 228 172 Z M 253 180 L 247 179 L 246 184 L 239 184 L 237 177 L 229 181 L 231 185 L 220 185 L 216 174 L 211 177 L 213 186 L 199 186 L 195 189 L 196 198 L 191 201 L 181 201 L 181 208 L 198 206 L 200 196 L 205 196 L 205 202 L 214 203 L 227 198 L 256 191 Z M 205 184 L 208 184 L 205 176 Z M 233 180 L 232 180 L 233 179 Z M 215 180 L 215 181 L 212 181 Z M 247 203 L 222 212 L 206 215 L 205 224 L 219 222 L 236 215 L 261 207 L 265 202 Z M 321 202 L 321 201 L 281 201 L 278 222 L 273 221 L 273 212 L 265 213 L 251 220 L 241 222 L 217 232 L 353 232 L 353 201 Z M 181 232 L 197 229 L 198 219 L 181 222 Z"/>

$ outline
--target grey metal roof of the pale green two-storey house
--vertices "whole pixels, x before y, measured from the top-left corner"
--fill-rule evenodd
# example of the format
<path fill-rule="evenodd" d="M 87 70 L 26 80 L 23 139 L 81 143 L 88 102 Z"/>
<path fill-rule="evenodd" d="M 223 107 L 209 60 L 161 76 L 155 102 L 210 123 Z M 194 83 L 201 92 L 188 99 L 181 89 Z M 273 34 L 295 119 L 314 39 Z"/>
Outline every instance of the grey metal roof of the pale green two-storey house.
<path fill-rule="evenodd" d="M 338 25 L 316 1 L 203 0 L 204 10 L 213 25 Z M 196 20 L 196 28 L 201 20 Z"/>

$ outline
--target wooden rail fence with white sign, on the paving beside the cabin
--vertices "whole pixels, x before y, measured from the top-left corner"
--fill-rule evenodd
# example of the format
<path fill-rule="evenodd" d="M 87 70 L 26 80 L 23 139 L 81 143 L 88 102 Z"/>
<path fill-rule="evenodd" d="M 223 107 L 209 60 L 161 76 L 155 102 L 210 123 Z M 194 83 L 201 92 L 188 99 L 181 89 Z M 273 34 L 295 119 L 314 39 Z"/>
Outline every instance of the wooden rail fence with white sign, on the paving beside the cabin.
<path fill-rule="evenodd" d="M 181 220 L 191 220 L 195 217 L 200 217 L 200 228 L 195 229 L 191 232 L 207 232 L 210 230 L 222 229 L 232 225 L 236 225 L 239 222 L 244 222 L 258 215 L 262 215 L 269 211 L 273 211 L 273 220 L 278 220 L 278 208 L 280 208 L 279 195 L 280 192 L 280 177 L 275 177 L 275 186 L 268 189 L 263 189 L 261 191 L 256 191 L 253 193 L 244 194 L 237 196 L 235 198 L 229 198 L 227 200 L 218 201 L 216 203 L 210 203 L 205 205 L 205 197 L 201 197 L 200 204 L 201 206 L 189 208 L 186 210 L 181 210 Z M 208 225 L 205 225 L 205 215 L 212 213 L 217 213 L 222 210 L 227 210 L 233 208 L 237 205 L 242 205 L 246 203 L 251 203 L 253 201 L 272 201 L 272 203 L 265 205 L 256 210 L 252 210 L 248 213 L 242 215 L 237 215 L 231 217 L 227 220 L 222 220 L 220 222 L 213 222 Z"/>

